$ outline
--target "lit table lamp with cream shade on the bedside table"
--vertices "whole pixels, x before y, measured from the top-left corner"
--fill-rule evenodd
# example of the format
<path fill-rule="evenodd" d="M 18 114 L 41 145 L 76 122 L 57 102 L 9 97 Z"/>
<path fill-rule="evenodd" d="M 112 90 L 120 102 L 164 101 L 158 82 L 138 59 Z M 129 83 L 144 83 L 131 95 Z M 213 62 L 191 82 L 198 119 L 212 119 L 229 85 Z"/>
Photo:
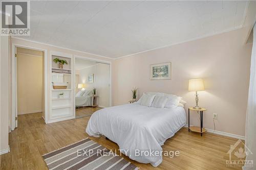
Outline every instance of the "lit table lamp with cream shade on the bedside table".
<path fill-rule="evenodd" d="M 203 79 L 190 79 L 188 81 L 188 91 L 196 91 L 196 106 L 193 107 L 193 109 L 201 109 L 201 107 L 198 106 L 198 91 L 204 90 L 204 81 Z"/>

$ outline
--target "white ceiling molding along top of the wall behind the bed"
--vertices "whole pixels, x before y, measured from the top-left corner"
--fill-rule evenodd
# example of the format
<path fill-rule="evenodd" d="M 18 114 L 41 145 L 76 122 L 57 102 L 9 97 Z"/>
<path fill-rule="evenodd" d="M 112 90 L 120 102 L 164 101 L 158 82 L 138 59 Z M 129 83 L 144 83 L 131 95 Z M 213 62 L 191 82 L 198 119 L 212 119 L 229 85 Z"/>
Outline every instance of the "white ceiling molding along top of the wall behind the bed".
<path fill-rule="evenodd" d="M 198 40 L 198 39 L 202 39 L 202 38 L 207 38 L 207 37 L 210 37 L 210 36 L 214 36 L 214 35 L 230 32 L 230 31 L 238 30 L 238 29 L 241 29 L 241 28 L 242 28 L 242 25 L 237 27 L 237 28 L 232 28 L 232 29 L 216 32 L 216 33 L 213 33 L 213 34 L 207 34 L 207 35 L 204 35 L 204 36 L 195 37 L 195 38 L 192 38 L 192 39 L 188 39 L 188 40 L 184 40 L 184 41 L 164 45 L 164 46 L 153 48 L 151 50 L 146 50 L 146 51 L 143 51 L 143 52 L 138 52 L 138 53 L 129 54 L 129 55 L 126 55 L 126 56 L 121 56 L 121 57 L 115 58 L 114 60 L 121 59 L 121 58 L 124 58 L 124 57 L 131 57 L 131 56 L 134 56 L 134 55 L 137 55 L 137 54 L 146 53 L 146 52 L 150 52 L 150 51 L 154 51 L 154 50 L 159 50 L 161 48 L 165 48 L 165 47 L 169 47 L 169 46 L 173 46 L 173 45 L 178 45 L 178 44 L 182 44 L 182 43 L 189 42 L 189 41 L 194 41 L 194 40 Z"/>

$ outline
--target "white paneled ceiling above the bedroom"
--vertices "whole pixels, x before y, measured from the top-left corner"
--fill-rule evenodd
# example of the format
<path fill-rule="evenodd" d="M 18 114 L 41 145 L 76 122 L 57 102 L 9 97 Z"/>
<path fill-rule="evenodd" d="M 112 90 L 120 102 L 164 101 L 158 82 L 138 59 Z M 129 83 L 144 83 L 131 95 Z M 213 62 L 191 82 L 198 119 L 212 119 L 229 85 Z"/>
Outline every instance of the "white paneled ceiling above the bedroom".
<path fill-rule="evenodd" d="M 246 1 L 31 1 L 29 40 L 118 58 L 240 28 Z"/>

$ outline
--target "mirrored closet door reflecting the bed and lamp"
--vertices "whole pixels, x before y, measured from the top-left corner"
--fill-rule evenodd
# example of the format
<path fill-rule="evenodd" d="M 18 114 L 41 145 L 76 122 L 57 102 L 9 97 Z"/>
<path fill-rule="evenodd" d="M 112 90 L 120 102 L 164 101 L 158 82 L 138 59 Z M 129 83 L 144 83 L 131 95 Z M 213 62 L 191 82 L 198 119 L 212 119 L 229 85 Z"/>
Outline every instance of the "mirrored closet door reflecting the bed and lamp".
<path fill-rule="evenodd" d="M 76 118 L 91 116 L 95 111 L 110 106 L 110 65 L 75 59 Z"/>

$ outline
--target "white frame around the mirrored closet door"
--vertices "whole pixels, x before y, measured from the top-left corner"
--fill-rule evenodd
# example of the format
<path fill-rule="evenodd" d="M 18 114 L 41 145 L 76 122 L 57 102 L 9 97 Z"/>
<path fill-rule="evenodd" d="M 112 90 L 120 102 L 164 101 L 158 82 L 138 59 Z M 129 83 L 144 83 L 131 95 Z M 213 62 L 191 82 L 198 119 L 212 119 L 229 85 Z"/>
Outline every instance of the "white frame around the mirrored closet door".
<path fill-rule="evenodd" d="M 74 61 L 73 61 L 73 68 L 75 70 L 75 60 L 76 59 L 83 59 L 83 60 L 88 60 L 88 61 L 95 61 L 98 63 L 103 63 L 103 64 L 109 64 L 110 65 L 110 96 L 109 96 L 109 105 L 110 107 L 112 106 L 112 62 L 111 61 L 105 61 L 105 60 L 100 60 L 100 59 L 95 59 L 95 58 L 90 58 L 90 57 L 83 57 L 83 56 L 78 56 L 78 55 L 74 55 Z M 73 80 L 75 79 L 75 74 L 73 75 Z M 75 91 L 75 81 L 73 82 L 73 91 Z M 74 99 L 75 99 L 75 92 L 74 92 Z M 76 104 L 75 102 L 73 103 L 73 108 L 74 108 L 74 113 L 76 111 Z"/>

